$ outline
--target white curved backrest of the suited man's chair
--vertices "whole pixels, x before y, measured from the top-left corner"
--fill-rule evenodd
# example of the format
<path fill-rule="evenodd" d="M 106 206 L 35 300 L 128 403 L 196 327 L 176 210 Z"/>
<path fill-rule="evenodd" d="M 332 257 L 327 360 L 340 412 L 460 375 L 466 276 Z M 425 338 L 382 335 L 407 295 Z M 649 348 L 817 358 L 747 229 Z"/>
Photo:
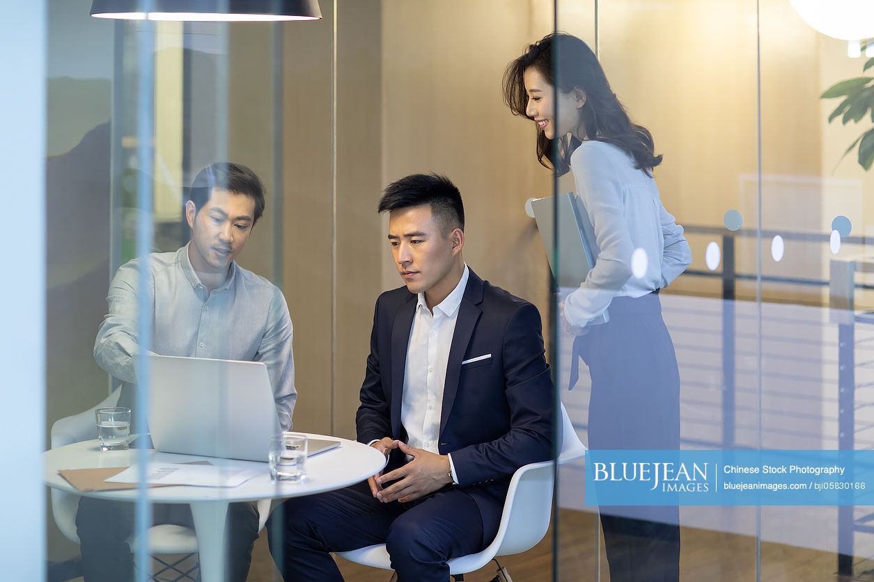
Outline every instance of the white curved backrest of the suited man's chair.
<path fill-rule="evenodd" d="M 559 407 L 562 420 L 560 465 L 583 458 L 586 447 L 579 441 L 565 405 L 559 403 Z M 513 474 L 501 524 L 491 544 L 497 544 L 497 556 L 528 551 L 545 536 L 552 511 L 555 464 L 552 461 L 535 462 L 520 467 Z"/>

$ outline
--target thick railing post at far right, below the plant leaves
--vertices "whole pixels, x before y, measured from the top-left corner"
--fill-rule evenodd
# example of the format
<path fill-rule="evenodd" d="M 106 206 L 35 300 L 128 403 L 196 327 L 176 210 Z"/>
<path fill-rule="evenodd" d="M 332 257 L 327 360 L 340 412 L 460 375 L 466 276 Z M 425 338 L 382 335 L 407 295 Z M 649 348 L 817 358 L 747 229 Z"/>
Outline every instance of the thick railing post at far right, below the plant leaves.
<path fill-rule="evenodd" d="M 837 322 L 837 448 L 853 450 L 856 424 L 856 323 L 854 291 L 856 261 L 829 264 L 829 320 Z M 835 310 L 840 310 L 836 312 Z M 854 505 L 837 508 L 837 572 L 853 574 Z"/>

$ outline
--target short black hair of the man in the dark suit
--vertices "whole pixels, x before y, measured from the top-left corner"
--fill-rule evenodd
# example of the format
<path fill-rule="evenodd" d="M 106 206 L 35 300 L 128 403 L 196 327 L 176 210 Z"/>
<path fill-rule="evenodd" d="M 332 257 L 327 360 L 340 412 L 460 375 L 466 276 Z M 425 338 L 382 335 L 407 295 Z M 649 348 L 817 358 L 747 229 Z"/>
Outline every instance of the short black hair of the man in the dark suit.
<path fill-rule="evenodd" d="M 411 174 L 385 187 L 378 212 L 431 205 L 431 214 L 443 235 L 452 229 L 464 230 L 464 204 L 461 193 L 445 175 Z"/>

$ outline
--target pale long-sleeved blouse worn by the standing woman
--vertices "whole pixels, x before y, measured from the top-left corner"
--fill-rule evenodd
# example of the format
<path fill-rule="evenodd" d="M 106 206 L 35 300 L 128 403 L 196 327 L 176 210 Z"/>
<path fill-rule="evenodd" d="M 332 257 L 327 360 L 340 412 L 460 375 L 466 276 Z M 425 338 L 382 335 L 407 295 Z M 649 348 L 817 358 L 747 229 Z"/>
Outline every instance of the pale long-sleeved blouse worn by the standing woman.
<path fill-rule="evenodd" d="M 571 171 L 598 245 L 586 281 L 565 299 L 565 318 L 581 327 L 607 310 L 614 297 L 638 298 L 668 286 L 689 266 L 692 254 L 655 181 L 620 147 L 583 141 L 571 154 Z M 645 257 L 642 277 L 633 276 L 637 249 Z"/>

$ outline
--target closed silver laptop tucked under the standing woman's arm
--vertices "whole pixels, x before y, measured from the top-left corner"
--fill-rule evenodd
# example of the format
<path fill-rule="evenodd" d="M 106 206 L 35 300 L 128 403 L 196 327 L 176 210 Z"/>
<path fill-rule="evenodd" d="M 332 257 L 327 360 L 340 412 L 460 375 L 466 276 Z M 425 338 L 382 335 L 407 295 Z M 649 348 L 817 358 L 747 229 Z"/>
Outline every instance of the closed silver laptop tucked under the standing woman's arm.
<path fill-rule="evenodd" d="M 555 201 L 558 201 L 558 212 Z M 546 257 L 558 287 L 577 288 L 586 280 L 598 258 L 598 243 L 586 209 L 572 192 L 531 200 L 531 210 L 538 223 Z M 558 257 L 555 252 L 555 229 L 558 223 Z M 556 264 L 558 262 L 558 264 Z M 608 312 L 586 325 L 607 323 Z"/>

